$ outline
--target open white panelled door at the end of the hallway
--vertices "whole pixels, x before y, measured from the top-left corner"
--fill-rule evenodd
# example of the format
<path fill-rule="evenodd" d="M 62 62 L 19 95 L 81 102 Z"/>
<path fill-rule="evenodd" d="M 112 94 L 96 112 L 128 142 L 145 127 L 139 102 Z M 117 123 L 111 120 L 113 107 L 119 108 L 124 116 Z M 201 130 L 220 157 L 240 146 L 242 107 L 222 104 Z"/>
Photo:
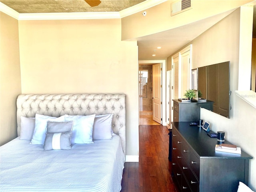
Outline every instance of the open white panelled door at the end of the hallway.
<path fill-rule="evenodd" d="M 162 73 L 161 64 L 154 64 L 152 67 L 153 83 L 153 120 L 162 124 Z"/>

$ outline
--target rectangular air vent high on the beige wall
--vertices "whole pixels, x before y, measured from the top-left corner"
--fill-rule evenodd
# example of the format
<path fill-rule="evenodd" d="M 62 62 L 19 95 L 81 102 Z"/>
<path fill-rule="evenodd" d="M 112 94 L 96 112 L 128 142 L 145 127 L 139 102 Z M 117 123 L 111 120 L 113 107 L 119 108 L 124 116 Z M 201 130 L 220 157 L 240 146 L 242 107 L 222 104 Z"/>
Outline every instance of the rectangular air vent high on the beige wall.
<path fill-rule="evenodd" d="M 192 9 L 193 0 L 180 0 L 171 4 L 171 16 Z"/>

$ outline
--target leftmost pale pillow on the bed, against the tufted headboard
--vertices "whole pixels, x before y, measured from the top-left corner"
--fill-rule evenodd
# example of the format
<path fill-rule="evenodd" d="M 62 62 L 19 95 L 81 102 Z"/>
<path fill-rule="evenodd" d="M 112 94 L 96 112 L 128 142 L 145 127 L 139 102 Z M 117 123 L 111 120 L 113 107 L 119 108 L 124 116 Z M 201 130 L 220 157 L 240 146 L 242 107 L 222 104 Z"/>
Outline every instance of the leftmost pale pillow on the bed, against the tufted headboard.
<path fill-rule="evenodd" d="M 36 119 L 20 117 L 20 140 L 32 140 Z"/>

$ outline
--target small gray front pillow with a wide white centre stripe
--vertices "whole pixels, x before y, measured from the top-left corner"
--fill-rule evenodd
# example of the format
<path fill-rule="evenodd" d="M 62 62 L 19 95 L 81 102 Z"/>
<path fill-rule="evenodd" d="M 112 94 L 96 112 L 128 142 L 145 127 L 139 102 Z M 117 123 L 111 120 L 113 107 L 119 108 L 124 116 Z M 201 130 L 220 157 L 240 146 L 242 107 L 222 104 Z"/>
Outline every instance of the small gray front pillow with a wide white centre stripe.
<path fill-rule="evenodd" d="M 68 150 L 71 149 L 72 131 L 48 133 L 44 140 L 44 150 Z"/>

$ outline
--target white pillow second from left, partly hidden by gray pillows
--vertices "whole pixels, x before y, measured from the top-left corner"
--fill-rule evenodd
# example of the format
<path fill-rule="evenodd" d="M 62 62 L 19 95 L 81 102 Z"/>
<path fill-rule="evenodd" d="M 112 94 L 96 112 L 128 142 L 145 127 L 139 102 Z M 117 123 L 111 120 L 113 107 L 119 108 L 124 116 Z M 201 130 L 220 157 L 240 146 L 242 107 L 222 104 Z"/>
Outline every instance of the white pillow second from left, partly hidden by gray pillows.
<path fill-rule="evenodd" d="M 44 144 L 47 121 L 60 122 L 65 121 L 64 115 L 58 118 L 36 114 L 36 124 L 31 144 Z"/>

